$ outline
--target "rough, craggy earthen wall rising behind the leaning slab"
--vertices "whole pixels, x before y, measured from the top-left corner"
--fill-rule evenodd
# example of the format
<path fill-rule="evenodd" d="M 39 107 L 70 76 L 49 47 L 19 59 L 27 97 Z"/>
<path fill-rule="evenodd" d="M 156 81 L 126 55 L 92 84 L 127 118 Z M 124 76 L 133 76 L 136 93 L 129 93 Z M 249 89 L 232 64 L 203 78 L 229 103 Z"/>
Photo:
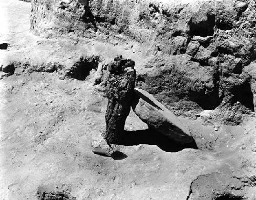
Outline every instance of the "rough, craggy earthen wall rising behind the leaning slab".
<path fill-rule="evenodd" d="M 256 3 L 187 2 L 33 0 L 31 29 L 46 37 L 138 41 L 155 57 L 137 87 L 176 114 L 218 108 L 239 123 L 254 109 L 243 68 L 256 59 Z"/>

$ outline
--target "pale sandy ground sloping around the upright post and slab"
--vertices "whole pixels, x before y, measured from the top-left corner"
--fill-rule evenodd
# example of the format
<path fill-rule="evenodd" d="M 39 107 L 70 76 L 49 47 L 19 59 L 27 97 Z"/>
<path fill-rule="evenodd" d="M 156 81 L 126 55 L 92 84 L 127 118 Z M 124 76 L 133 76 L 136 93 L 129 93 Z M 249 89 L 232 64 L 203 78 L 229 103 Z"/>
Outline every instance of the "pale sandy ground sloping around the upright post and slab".
<path fill-rule="evenodd" d="M 9 16 L 1 20 L 1 40 L 9 43 L 1 62 L 16 67 L 0 80 L 1 200 L 254 198 L 255 118 L 240 126 L 214 122 L 209 114 L 181 118 L 199 149 L 179 149 L 143 131 L 146 124 L 131 113 L 125 129 L 137 137 L 117 146 L 127 158 L 94 155 L 92 138 L 104 131 L 106 109 L 102 87 L 93 85 L 100 70 L 91 67 L 80 81 L 71 78 L 74 66 L 122 54 L 140 72 L 151 58 L 122 45 L 42 39 L 29 32 L 29 3 L 1 1 L 0 8 Z"/>

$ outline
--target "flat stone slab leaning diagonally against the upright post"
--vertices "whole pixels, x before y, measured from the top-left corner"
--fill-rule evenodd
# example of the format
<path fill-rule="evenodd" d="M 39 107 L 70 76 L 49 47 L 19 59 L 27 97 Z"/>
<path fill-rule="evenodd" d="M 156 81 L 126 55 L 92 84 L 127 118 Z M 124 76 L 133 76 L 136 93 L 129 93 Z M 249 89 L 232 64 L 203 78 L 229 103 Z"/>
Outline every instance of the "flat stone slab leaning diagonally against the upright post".
<path fill-rule="evenodd" d="M 189 130 L 179 118 L 159 103 L 150 93 L 135 88 L 132 108 L 148 127 L 178 143 L 184 144 L 193 141 Z"/>

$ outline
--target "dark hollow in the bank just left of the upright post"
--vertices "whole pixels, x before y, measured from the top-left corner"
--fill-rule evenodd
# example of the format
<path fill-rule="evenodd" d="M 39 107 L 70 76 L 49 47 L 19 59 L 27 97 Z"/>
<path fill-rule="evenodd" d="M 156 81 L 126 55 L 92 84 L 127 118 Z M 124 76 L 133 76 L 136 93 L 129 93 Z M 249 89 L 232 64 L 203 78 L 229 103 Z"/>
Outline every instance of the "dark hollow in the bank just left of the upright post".
<path fill-rule="evenodd" d="M 97 69 L 99 64 L 99 56 L 84 58 L 81 57 L 79 62 L 76 62 L 67 72 L 67 75 L 79 81 L 85 80 L 92 69 Z"/>

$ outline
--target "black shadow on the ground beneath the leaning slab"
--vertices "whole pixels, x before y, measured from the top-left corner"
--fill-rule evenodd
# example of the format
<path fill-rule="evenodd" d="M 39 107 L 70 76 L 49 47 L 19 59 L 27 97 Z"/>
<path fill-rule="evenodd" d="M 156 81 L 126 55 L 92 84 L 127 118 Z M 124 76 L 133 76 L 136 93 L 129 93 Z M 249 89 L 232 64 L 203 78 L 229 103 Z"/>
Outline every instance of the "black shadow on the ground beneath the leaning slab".
<path fill-rule="evenodd" d="M 157 145 L 165 152 L 179 152 L 184 148 L 198 149 L 195 141 L 186 144 L 178 144 L 169 137 L 153 129 L 124 131 L 122 138 L 119 139 L 116 144 L 124 146 L 133 146 L 139 144 Z"/>

